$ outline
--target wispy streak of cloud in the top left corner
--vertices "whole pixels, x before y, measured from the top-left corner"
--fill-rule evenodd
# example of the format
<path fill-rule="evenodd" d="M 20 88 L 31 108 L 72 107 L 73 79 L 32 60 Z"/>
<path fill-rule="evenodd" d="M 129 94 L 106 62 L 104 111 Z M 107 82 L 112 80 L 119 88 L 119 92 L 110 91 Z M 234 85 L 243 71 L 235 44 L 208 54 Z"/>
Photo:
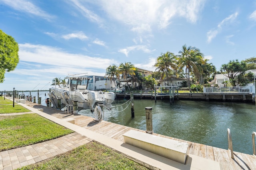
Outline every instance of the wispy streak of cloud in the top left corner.
<path fill-rule="evenodd" d="M 32 4 L 28 0 L 1 0 L 1 2 L 10 6 L 14 10 L 32 14 L 33 16 L 43 18 L 47 21 L 51 21 L 55 18 L 55 16 L 48 14 L 44 10 L 41 10 L 38 6 Z"/>

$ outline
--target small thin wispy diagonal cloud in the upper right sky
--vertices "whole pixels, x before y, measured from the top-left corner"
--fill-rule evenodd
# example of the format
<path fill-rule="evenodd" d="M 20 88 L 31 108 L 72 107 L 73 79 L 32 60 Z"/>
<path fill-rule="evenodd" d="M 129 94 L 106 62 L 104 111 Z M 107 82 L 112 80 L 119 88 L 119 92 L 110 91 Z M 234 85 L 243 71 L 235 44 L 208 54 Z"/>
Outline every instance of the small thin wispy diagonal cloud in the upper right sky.
<path fill-rule="evenodd" d="M 207 32 L 207 43 L 210 43 L 213 38 L 215 38 L 218 33 L 222 31 L 222 28 L 226 25 L 230 25 L 238 16 L 238 12 L 235 12 L 234 14 L 228 16 L 224 20 L 222 20 L 218 25 L 217 28 L 211 29 Z"/>

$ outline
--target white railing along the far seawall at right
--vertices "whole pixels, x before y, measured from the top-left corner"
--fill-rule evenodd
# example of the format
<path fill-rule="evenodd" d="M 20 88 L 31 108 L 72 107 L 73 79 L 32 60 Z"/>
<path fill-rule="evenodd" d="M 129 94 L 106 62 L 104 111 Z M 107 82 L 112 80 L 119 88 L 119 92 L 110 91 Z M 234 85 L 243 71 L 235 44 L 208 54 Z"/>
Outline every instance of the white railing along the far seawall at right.
<path fill-rule="evenodd" d="M 234 87 L 204 87 L 204 93 L 255 93 L 254 86 L 234 86 Z"/>

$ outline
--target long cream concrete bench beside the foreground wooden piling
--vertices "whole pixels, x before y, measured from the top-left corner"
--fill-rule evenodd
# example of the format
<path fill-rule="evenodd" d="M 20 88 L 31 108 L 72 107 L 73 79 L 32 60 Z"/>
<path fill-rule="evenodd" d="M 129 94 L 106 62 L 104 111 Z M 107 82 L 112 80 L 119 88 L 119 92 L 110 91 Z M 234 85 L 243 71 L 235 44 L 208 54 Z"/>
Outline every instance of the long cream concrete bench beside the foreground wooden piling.
<path fill-rule="evenodd" d="M 186 163 L 188 143 L 130 130 L 124 135 L 124 143 L 158 154 L 165 158 Z"/>

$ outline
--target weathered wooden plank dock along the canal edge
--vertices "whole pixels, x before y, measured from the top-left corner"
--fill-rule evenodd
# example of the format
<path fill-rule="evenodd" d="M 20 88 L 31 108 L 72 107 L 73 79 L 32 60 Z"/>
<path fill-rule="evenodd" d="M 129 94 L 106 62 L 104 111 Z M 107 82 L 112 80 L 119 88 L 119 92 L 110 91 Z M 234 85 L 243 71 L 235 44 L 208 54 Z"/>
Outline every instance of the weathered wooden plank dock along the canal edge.
<path fill-rule="evenodd" d="M 42 105 L 31 104 L 31 107 L 34 107 L 36 109 L 43 108 L 44 113 L 48 113 L 49 115 L 52 115 L 59 119 L 66 119 L 66 118 L 75 119 L 76 125 L 83 127 L 85 129 L 94 131 L 96 133 L 106 135 L 107 137 L 116 139 L 118 141 L 123 141 L 122 135 L 127 131 L 134 129 L 132 127 L 118 125 L 108 121 L 98 122 L 98 121 L 95 121 L 93 117 L 88 117 L 84 115 L 65 114 L 64 111 L 52 109 L 50 107 L 46 107 Z M 140 130 L 140 129 L 134 129 L 134 130 L 144 132 L 143 130 Z M 193 142 L 184 141 L 181 139 L 175 139 L 175 138 L 160 135 L 157 133 L 153 133 L 153 135 L 188 143 L 189 144 L 188 154 L 201 156 L 203 158 L 207 158 L 207 159 L 219 162 L 220 168 L 222 170 L 240 170 L 240 169 L 256 170 L 256 156 L 254 155 L 234 152 L 234 159 L 232 159 L 230 151 L 226 149 L 220 149 L 216 147 L 202 145 L 199 143 L 193 143 Z"/>

